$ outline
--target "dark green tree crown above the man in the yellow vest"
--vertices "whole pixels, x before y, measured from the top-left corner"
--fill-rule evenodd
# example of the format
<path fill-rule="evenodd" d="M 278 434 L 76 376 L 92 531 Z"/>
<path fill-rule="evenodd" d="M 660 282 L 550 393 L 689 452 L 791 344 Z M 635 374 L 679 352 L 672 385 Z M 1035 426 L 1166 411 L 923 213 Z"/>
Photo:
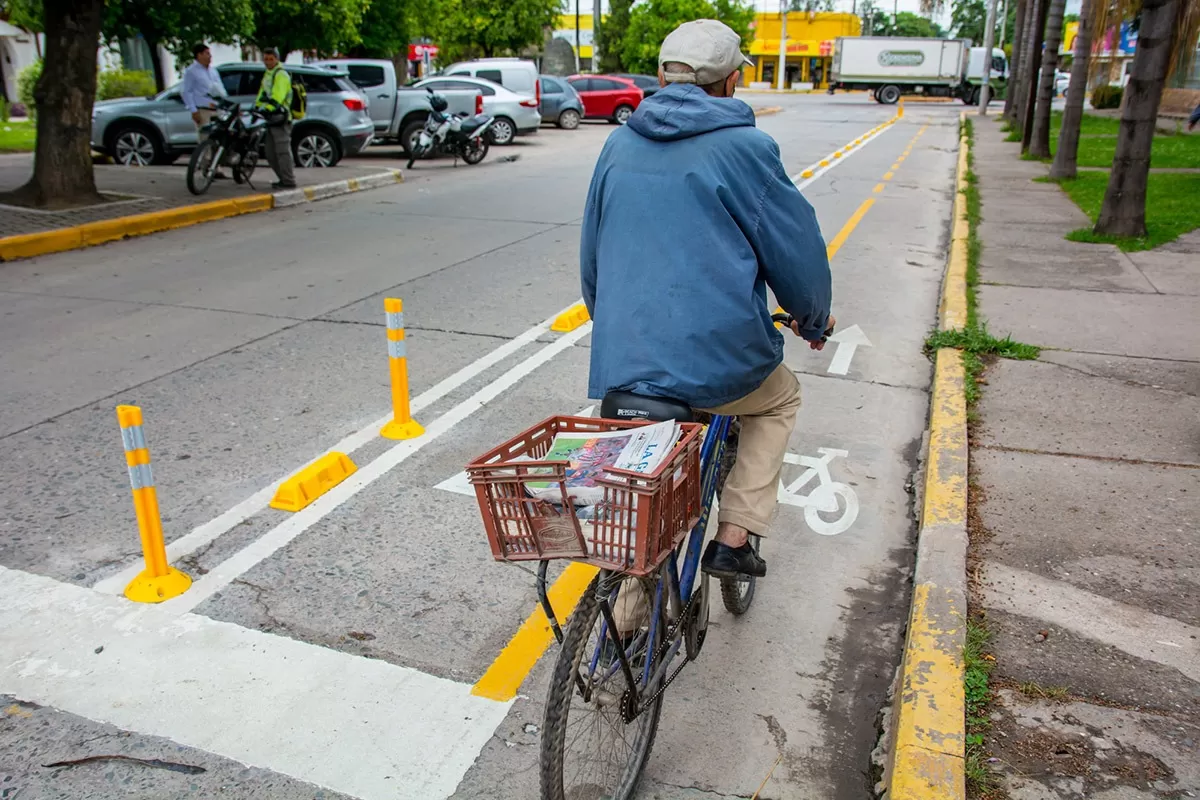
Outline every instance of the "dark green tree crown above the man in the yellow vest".
<path fill-rule="evenodd" d="M 221 0 L 215 0 L 220 2 Z M 277 47 L 335 55 L 350 52 L 371 0 L 256 0 L 250 41 L 259 48 Z"/>

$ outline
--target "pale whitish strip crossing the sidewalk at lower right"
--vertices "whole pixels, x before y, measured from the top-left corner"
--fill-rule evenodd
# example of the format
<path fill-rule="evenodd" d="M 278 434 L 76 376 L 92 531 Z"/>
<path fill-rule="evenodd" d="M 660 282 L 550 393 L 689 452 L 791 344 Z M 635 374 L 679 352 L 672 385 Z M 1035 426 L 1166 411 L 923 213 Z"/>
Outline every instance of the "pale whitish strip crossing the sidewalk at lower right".
<path fill-rule="evenodd" d="M 990 608 L 1057 625 L 1200 680 L 1200 627 L 997 561 L 984 563 L 982 596 Z"/>

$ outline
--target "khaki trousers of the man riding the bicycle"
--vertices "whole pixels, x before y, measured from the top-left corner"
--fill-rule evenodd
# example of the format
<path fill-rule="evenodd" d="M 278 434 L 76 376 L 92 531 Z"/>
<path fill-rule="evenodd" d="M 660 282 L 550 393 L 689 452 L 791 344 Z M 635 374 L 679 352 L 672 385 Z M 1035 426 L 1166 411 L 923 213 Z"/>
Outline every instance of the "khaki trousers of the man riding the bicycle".
<path fill-rule="evenodd" d="M 737 416 L 742 421 L 738 458 L 725 479 L 718 522 L 766 535 L 775 513 L 779 474 L 799 409 L 800 384 L 784 365 L 745 397 L 701 409 L 709 414 Z M 643 585 L 638 581 L 625 581 L 612 609 L 617 630 L 622 634 L 636 631 L 646 624 L 649 612 L 650 597 Z"/>

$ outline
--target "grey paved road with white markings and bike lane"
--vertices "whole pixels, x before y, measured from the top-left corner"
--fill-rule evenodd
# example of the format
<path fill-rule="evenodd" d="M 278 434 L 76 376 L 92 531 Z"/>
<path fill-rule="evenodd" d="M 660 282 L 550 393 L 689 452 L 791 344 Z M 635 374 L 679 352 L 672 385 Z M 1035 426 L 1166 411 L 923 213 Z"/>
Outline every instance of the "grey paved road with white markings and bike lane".
<path fill-rule="evenodd" d="M 760 798 L 865 798 L 907 612 L 961 107 L 910 106 L 805 181 L 894 109 L 746 98 L 782 107 L 760 126 L 836 245 L 847 338 L 790 345 L 790 451 L 848 492 L 832 515 L 805 516 L 811 486 L 781 504 L 754 608 L 718 601 L 667 693 L 642 796 L 749 798 L 770 774 Z M 0 796 L 536 796 L 552 660 L 510 675 L 514 699 L 470 694 L 533 579 L 492 561 L 452 479 L 589 404 L 587 330 L 538 326 L 578 300 L 611 131 L 544 130 L 394 188 L 0 266 Z M 427 428 L 406 444 L 376 435 L 385 296 L 404 301 Z M 196 579 L 157 607 L 119 596 L 140 552 L 119 403 L 145 411 L 172 555 Z M 338 447 L 358 474 L 304 512 L 265 507 Z M 145 760 L 46 766 L 92 756 Z"/>

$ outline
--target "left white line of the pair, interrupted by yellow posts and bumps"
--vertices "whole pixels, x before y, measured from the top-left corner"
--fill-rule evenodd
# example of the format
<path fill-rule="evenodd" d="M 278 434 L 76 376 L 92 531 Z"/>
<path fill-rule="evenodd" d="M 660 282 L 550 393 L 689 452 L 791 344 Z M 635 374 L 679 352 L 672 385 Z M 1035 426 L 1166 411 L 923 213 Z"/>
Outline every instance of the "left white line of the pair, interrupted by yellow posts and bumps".
<path fill-rule="evenodd" d="M 558 313 L 560 314 L 568 311 L 569 308 L 574 308 L 578 302 L 580 301 L 571 303 L 570 306 L 568 306 L 566 308 L 564 308 L 562 312 Z M 425 390 L 424 392 L 413 398 L 412 403 L 413 414 L 416 414 L 428 408 L 430 405 L 438 402 L 450 392 L 464 385 L 467 381 L 473 380 L 474 378 L 482 374 L 485 371 L 490 369 L 491 367 L 496 366 L 504 359 L 509 357 L 517 350 L 535 342 L 539 336 L 550 330 L 551 324 L 554 321 L 557 317 L 558 314 L 554 314 L 553 317 L 542 320 L 541 323 L 534 325 L 533 327 L 521 333 L 516 338 L 505 342 L 504 344 L 496 348 L 491 353 L 476 359 L 475 361 L 472 361 L 470 363 L 468 363 L 466 367 L 454 373 L 452 375 L 442 379 L 433 386 L 430 386 L 427 390 Z M 324 456 L 330 452 L 343 452 L 343 453 L 354 452 L 359 447 L 371 441 L 374 441 L 374 439 L 378 438 L 379 435 L 379 428 L 382 428 L 390 420 L 391 420 L 391 414 L 379 417 L 374 422 L 371 422 L 366 427 L 346 437 L 336 445 L 326 450 L 324 453 L 320 453 L 320 456 Z M 316 461 L 316 458 L 318 457 L 319 456 L 313 457 L 312 461 Z M 312 461 L 305 463 L 311 464 Z M 299 469 L 299 467 L 296 467 L 296 469 Z M 266 504 L 271 501 L 271 498 L 275 497 L 275 492 L 280 488 L 280 483 L 283 482 L 288 476 L 293 475 L 294 473 L 295 469 L 289 471 L 287 475 L 281 476 L 277 481 L 275 481 L 270 486 L 266 486 L 259 489 L 258 492 L 254 492 L 248 498 L 246 498 L 238 505 L 233 506 L 221 516 L 210 519 L 203 525 L 199 525 L 198 528 L 193 529 L 190 534 L 185 534 L 184 536 L 180 536 L 175 541 L 167 545 L 167 560 L 174 564 L 179 559 L 191 555 L 202 547 L 205 547 L 211 542 L 216 541 L 217 539 L 223 536 L 226 533 L 233 530 L 234 527 L 240 525 L 250 517 L 253 517 L 256 513 L 265 509 Z M 125 587 L 128 585 L 130 581 L 136 578 L 137 575 L 142 571 L 142 569 L 143 569 L 143 563 L 140 559 L 138 559 L 137 561 L 124 567 L 120 572 L 96 582 L 92 589 L 95 589 L 96 591 L 102 591 L 107 595 L 120 595 L 121 593 L 125 591 Z"/>

